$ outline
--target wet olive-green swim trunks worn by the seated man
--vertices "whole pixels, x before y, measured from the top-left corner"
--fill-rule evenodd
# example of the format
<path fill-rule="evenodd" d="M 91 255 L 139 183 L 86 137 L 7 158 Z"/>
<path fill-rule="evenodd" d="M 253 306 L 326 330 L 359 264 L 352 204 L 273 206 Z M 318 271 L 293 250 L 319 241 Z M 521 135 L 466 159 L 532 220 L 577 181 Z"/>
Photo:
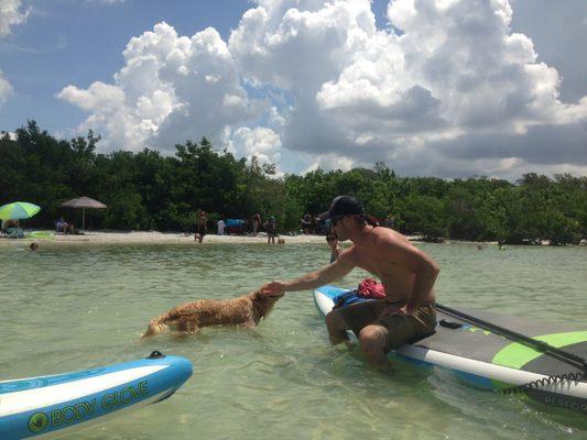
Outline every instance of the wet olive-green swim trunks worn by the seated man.
<path fill-rule="evenodd" d="M 374 299 L 351 304 L 350 306 L 336 310 L 341 314 L 347 323 L 347 328 L 352 330 L 357 337 L 366 326 L 381 326 L 388 337 L 385 352 L 434 333 L 434 329 L 436 328 L 436 310 L 433 302 L 422 304 L 410 316 L 381 316 L 387 307 L 395 305 L 398 307 L 402 306 L 402 304 L 389 302 L 385 299 Z"/>

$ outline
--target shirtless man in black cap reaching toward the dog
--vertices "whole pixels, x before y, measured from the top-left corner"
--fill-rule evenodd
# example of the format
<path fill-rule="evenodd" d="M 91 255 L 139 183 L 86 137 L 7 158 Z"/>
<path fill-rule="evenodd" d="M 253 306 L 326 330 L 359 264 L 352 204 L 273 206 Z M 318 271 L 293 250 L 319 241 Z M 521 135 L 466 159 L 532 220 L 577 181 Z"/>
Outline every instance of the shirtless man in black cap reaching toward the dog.
<path fill-rule="evenodd" d="M 346 330 L 352 330 L 367 360 L 379 370 L 390 371 L 390 350 L 430 334 L 436 327 L 433 286 L 439 266 L 399 232 L 377 227 L 355 197 L 336 197 L 328 212 L 320 216 L 322 220 L 328 218 L 338 240 L 350 240 L 352 246 L 333 264 L 290 282 L 268 283 L 261 293 L 272 296 L 314 289 L 355 267 L 376 275 L 385 288 L 385 298 L 334 309 L 326 324 L 334 344 L 344 342 Z"/>

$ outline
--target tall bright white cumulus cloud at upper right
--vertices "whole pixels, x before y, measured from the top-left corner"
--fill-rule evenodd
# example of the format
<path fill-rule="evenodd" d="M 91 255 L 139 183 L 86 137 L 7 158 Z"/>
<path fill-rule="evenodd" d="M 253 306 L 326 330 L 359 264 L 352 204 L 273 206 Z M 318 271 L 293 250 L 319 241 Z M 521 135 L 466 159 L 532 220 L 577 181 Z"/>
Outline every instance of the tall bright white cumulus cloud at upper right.
<path fill-rule="evenodd" d="M 378 33 L 317 94 L 322 109 L 351 130 L 426 139 L 587 117 L 586 106 L 557 99 L 558 75 L 536 63 L 532 42 L 509 34 L 506 1 L 398 0 L 389 19 L 404 33 Z"/>

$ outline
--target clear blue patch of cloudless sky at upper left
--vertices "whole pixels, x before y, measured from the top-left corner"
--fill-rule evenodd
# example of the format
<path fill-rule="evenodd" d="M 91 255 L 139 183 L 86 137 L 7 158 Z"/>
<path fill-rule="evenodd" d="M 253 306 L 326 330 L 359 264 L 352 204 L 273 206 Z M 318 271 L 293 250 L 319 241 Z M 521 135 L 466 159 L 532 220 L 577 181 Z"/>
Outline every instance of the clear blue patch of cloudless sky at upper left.
<path fill-rule="evenodd" d="M 48 131 L 76 127 L 86 114 L 55 95 L 68 84 L 87 87 L 111 78 L 132 36 L 166 21 L 183 35 L 213 26 L 227 37 L 249 7 L 242 0 L 23 2 L 30 18 L 0 42 L 0 66 L 17 90 L 0 124 L 14 130 L 33 118 Z"/>

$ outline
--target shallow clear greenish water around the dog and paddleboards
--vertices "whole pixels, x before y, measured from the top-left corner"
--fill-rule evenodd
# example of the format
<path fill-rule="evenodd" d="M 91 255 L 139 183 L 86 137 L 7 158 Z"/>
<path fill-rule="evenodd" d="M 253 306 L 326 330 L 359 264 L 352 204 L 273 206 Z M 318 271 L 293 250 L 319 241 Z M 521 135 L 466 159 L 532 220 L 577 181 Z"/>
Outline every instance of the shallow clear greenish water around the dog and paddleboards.
<path fill-rule="evenodd" d="M 480 393 L 443 371 L 382 375 L 333 348 L 309 292 L 291 293 L 254 330 L 207 328 L 139 342 L 152 317 L 198 298 L 244 294 L 327 262 L 326 244 L 0 246 L 0 380 L 186 356 L 171 399 L 76 432 L 79 439 L 585 439 L 584 417 Z M 423 244 L 442 265 L 438 300 L 576 322 L 587 316 L 587 248 Z M 366 277 L 356 271 L 340 284 Z"/>

